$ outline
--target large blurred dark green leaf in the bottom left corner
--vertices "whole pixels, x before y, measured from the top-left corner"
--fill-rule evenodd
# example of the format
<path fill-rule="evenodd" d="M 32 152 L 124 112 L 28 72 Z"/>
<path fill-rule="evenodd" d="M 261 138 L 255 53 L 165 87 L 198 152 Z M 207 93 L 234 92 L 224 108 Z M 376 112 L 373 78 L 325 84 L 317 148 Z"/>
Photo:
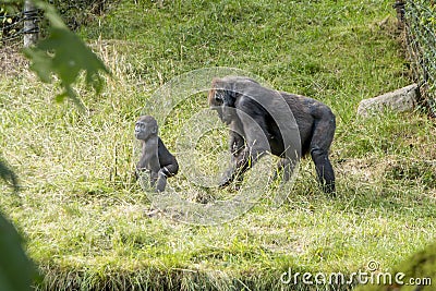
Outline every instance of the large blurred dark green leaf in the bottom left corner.
<path fill-rule="evenodd" d="M 36 277 L 15 228 L 0 214 L 0 290 L 27 291 Z"/>

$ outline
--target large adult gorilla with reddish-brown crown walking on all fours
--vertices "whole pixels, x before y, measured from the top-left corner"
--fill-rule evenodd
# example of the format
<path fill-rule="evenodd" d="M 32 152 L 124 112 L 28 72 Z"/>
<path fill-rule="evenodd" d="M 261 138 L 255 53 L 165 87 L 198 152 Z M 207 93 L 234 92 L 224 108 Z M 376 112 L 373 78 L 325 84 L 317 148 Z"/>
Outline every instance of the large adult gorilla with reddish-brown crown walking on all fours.
<path fill-rule="evenodd" d="M 288 108 L 283 108 L 283 99 Z M 242 76 L 214 78 L 208 102 L 230 128 L 233 165 L 226 172 L 220 186 L 230 184 L 234 179 L 242 179 L 242 174 L 267 150 L 281 157 L 279 169 L 284 170 L 283 179 L 289 179 L 293 165 L 286 155 L 286 143 L 278 122 L 283 121 L 283 114 L 288 114 L 284 118 L 288 118 L 289 123 L 293 123 L 294 119 L 300 132 L 301 153 L 296 153 L 296 158 L 310 153 L 323 191 L 335 192 L 335 173 L 328 151 L 336 121 L 326 105 L 301 95 L 266 88 Z M 257 124 L 254 125 L 254 122 Z M 263 132 L 258 132 L 259 126 Z M 259 142 L 262 140 L 267 142 Z"/>

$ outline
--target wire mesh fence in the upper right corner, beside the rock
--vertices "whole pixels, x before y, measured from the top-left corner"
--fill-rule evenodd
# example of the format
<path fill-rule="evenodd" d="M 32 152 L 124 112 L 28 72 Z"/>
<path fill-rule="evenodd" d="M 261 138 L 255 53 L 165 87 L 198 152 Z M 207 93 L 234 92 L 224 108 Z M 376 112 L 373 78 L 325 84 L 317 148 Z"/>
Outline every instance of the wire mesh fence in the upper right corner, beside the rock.
<path fill-rule="evenodd" d="M 424 106 L 436 118 L 436 1 L 397 0 L 395 7 L 404 28 L 413 77 Z"/>

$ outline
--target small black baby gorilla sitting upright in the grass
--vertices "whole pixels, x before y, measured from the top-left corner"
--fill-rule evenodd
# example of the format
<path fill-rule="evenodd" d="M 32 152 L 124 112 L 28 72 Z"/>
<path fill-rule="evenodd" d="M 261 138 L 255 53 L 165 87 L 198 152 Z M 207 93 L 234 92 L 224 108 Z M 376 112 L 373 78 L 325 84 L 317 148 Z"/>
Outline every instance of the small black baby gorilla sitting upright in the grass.
<path fill-rule="evenodd" d="M 136 179 L 140 172 L 150 172 L 150 186 L 157 192 L 165 191 L 167 178 L 179 171 L 179 163 L 157 135 L 157 121 L 150 116 L 143 116 L 135 123 L 135 137 L 142 143 L 142 156 L 136 165 Z"/>

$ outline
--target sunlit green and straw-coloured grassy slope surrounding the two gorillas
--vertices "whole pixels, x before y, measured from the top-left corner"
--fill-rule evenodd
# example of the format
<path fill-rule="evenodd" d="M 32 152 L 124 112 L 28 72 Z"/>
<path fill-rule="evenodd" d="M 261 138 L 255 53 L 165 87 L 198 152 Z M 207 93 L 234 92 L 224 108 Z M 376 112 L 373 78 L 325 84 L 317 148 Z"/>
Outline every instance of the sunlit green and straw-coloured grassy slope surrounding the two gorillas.
<path fill-rule="evenodd" d="M 429 243 L 436 234 L 434 123 L 419 111 L 355 116 L 361 99 L 410 82 L 391 4 L 177 0 L 158 8 L 123 0 L 80 32 L 114 74 L 101 96 L 78 86 L 86 113 L 53 104 L 58 89 L 25 71 L 3 74 L 0 155 L 19 173 L 22 191 L 2 187 L 0 205 L 40 266 L 38 288 L 316 290 L 282 284 L 280 276 L 289 268 L 351 274 L 371 260 L 390 269 Z M 160 85 L 217 65 L 243 69 L 332 108 L 337 197 L 319 191 L 304 160 L 280 208 L 263 199 L 213 227 L 149 215 L 148 198 L 132 181 L 133 123 Z M 205 95 L 160 124 L 170 149 L 198 107 L 207 107 Z M 198 146 L 210 157 L 198 161 L 204 165 L 215 165 L 215 153 L 226 147 L 226 132 L 210 135 Z M 170 183 L 201 191 L 183 174 Z"/>

